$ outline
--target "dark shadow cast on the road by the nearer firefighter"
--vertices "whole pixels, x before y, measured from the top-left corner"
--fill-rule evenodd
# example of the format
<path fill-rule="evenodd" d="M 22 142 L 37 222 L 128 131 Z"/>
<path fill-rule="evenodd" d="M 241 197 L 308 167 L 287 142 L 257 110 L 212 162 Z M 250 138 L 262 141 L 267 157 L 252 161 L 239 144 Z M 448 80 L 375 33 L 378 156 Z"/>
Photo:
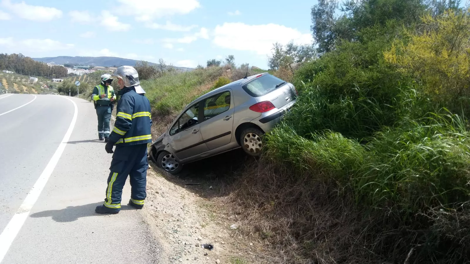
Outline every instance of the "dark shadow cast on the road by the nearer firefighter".
<path fill-rule="evenodd" d="M 78 206 L 67 206 L 64 209 L 60 210 L 47 210 L 42 212 L 37 212 L 31 214 L 33 218 L 39 217 L 52 217 L 52 220 L 55 222 L 73 222 L 78 220 L 80 217 L 92 217 L 92 216 L 103 216 L 101 214 L 97 214 L 94 212 L 94 209 L 98 205 L 102 205 L 103 202 L 95 202 L 85 205 L 78 205 Z M 121 211 L 123 210 L 136 210 L 129 205 L 121 205 Z M 106 214 L 105 214 L 106 215 Z"/>

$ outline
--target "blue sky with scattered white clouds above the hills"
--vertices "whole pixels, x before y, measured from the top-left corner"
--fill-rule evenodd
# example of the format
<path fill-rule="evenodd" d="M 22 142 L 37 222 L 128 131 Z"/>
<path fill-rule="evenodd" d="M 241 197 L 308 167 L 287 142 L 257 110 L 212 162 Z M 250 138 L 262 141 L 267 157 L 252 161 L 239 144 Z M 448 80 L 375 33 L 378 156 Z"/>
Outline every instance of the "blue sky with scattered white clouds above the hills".
<path fill-rule="evenodd" d="M 272 44 L 311 43 L 308 0 L 0 0 L 0 53 L 117 56 L 267 69 Z"/>

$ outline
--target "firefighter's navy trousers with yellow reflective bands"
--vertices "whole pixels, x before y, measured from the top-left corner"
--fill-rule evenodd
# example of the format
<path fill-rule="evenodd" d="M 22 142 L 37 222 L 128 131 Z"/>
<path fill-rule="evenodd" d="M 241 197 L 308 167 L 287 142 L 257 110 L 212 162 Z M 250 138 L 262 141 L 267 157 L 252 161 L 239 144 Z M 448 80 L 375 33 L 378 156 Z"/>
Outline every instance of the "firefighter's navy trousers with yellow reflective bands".
<path fill-rule="evenodd" d="M 119 210 L 121 208 L 121 195 L 127 176 L 131 184 L 131 201 L 143 205 L 147 197 L 147 144 L 133 146 L 116 146 L 110 166 L 108 187 L 104 206 Z"/>

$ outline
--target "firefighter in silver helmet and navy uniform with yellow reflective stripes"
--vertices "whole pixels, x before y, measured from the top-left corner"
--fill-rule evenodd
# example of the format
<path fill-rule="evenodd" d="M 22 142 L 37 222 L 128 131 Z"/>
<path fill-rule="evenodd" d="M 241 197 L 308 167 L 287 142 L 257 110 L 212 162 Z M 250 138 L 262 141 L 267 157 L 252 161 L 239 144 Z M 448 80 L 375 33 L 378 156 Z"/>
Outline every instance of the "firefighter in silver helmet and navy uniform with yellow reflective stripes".
<path fill-rule="evenodd" d="M 147 143 L 152 142 L 150 127 L 150 102 L 139 82 L 137 71 L 131 66 L 121 66 L 112 78 L 118 79 L 120 99 L 116 122 L 106 143 L 106 152 L 114 153 L 103 205 L 95 212 L 116 214 L 121 209 L 121 194 L 127 176 L 131 183 L 128 205 L 141 209 L 147 196 Z M 113 151 L 113 146 L 116 146 Z"/>

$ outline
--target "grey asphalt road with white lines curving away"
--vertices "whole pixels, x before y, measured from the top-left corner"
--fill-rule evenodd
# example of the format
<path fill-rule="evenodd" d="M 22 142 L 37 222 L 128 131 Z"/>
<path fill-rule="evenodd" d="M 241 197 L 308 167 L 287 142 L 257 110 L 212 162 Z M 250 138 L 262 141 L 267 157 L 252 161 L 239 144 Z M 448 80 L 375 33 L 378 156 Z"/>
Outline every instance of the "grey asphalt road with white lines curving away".
<path fill-rule="evenodd" d="M 128 181 L 119 214 L 94 212 L 111 161 L 96 125 L 85 100 L 0 95 L 1 264 L 159 263 Z"/>

